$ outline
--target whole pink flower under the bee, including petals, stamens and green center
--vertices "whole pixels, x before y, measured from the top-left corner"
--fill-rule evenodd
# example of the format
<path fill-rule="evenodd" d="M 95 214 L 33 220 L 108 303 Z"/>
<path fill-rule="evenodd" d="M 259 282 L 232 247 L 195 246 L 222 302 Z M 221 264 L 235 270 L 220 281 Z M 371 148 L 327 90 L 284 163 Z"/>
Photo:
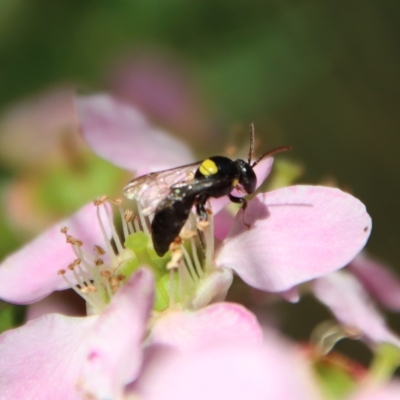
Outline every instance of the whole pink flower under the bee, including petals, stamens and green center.
<path fill-rule="evenodd" d="M 85 139 L 124 168 L 149 172 L 193 160 L 186 146 L 152 129 L 127 105 L 100 96 L 79 106 Z M 259 183 L 271 166 L 272 159 L 257 166 Z M 213 212 L 224 202 L 213 203 Z M 76 398 L 77 383 L 81 394 L 100 399 L 196 399 L 220 397 L 224 390 L 229 398 L 315 397 L 297 350 L 271 338 L 263 344 L 260 326 L 242 306 L 213 303 L 225 299 L 233 272 L 253 287 L 289 293 L 345 266 L 371 231 L 359 200 L 318 186 L 259 194 L 244 216 L 250 229 L 240 211 L 216 252 L 213 218 L 203 232 L 203 251 L 191 216 L 182 233 L 188 246 L 162 258 L 154 253 L 140 205 L 136 219 L 119 202 L 117 207 L 122 240 L 102 199 L 0 266 L 1 298 L 30 303 L 71 287 L 91 315 L 49 314 L 0 337 L 0 386 L 10 398 Z M 201 373 L 209 382 L 204 393 L 196 391 Z"/>

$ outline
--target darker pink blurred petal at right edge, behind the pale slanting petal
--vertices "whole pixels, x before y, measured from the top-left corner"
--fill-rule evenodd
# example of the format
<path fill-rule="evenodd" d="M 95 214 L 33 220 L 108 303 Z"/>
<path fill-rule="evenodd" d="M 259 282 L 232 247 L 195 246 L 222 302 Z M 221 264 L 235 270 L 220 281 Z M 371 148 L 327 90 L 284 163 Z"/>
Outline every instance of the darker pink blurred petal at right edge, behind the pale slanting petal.
<path fill-rule="evenodd" d="M 372 297 L 388 309 L 400 311 L 400 279 L 388 265 L 361 253 L 349 269 Z"/>

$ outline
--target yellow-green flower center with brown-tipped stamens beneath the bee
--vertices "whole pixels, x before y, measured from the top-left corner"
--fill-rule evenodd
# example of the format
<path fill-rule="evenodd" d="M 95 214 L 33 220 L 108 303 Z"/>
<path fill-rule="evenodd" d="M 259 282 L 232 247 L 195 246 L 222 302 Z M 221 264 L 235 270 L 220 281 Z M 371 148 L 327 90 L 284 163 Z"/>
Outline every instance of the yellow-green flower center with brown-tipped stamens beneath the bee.
<path fill-rule="evenodd" d="M 112 207 L 118 208 L 122 221 L 120 235 L 114 225 Z M 137 212 L 123 210 L 121 200 L 110 202 L 102 197 L 94 202 L 97 220 L 104 236 L 105 248 L 95 246 L 92 252 L 84 248 L 81 240 L 61 232 L 72 246 L 76 259 L 59 274 L 83 297 L 88 314 L 101 313 L 124 281 L 138 268 L 146 266 L 156 282 L 155 311 L 168 308 L 197 309 L 219 297 L 221 270 L 213 264 L 213 216 L 197 222 L 191 213 L 180 236 L 170 250 L 159 257 L 152 244 L 150 220 L 137 205 Z M 231 273 L 224 275 L 223 291 L 229 288 Z M 215 284 L 217 279 L 218 283 Z"/>

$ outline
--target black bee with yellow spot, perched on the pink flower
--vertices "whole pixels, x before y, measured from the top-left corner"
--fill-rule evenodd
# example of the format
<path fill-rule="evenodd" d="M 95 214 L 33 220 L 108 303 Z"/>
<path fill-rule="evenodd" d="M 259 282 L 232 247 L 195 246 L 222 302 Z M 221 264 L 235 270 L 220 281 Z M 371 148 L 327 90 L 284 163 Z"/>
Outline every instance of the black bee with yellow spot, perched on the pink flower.
<path fill-rule="evenodd" d="M 154 213 L 151 236 L 154 250 L 162 257 L 179 235 L 195 206 L 200 221 L 207 220 L 209 198 L 228 196 L 230 201 L 246 208 L 244 197 L 232 195 L 234 189 L 249 195 L 257 187 L 254 167 L 265 157 L 289 150 L 282 146 L 267 151 L 251 162 L 254 151 L 254 125 L 250 124 L 250 147 L 247 162 L 214 156 L 193 164 L 139 176 L 124 188 L 129 199 L 137 200 L 144 215 Z"/>

